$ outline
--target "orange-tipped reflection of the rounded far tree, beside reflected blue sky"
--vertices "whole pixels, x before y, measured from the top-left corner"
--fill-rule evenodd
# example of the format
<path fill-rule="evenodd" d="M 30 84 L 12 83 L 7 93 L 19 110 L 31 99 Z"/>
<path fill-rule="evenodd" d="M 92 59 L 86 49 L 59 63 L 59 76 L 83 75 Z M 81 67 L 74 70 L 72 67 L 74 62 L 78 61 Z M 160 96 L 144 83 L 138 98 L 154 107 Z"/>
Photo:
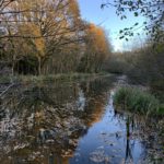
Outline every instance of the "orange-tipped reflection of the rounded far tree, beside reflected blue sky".
<path fill-rule="evenodd" d="M 94 82 L 81 83 L 81 89 L 86 98 L 84 106 L 84 113 L 79 115 L 81 118 L 85 118 L 85 124 L 90 127 L 94 122 L 101 120 L 104 107 L 108 103 L 109 89 L 113 86 L 114 79 L 98 79 Z"/>

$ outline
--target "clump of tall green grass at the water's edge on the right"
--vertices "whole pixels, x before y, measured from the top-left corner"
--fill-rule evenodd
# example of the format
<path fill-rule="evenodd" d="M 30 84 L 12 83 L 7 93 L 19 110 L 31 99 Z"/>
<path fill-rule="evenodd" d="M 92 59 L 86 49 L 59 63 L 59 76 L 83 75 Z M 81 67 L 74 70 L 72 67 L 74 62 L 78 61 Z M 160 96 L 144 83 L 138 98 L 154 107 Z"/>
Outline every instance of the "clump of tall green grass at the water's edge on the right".
<path fill-rule="evenodd" d="M 164 105 L 152 94 L 136 87 L 120 87 L 114 95 L 116 107 L 143 115 L 164 115 Z"/>

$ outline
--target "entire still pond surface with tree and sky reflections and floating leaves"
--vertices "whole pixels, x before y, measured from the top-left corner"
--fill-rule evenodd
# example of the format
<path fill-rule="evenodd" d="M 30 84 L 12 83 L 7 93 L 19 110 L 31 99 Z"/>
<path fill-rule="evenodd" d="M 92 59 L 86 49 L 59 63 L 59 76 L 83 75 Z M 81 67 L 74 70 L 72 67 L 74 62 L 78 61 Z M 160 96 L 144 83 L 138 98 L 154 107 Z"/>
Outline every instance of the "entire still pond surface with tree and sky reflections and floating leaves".
<path fill-rule="evenodd" d="M 117 81 L 12 90 L 0 104 L 0 164 L 161 164 L 153 121 L 114 108 Z"/>

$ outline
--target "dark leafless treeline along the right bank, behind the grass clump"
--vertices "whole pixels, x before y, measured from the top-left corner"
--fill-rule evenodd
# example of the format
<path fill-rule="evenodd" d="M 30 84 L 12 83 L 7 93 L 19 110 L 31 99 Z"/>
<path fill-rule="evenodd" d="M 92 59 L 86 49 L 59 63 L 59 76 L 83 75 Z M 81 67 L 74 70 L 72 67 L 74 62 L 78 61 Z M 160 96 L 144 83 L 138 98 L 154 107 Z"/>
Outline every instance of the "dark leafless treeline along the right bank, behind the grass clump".
<path fill-rule="evenodd" d="M 127 74 L 130 82 L 150 86 L 163 97 L 164 44 L 145 44 L 131 51 L 115 52 L 106 63 L 106 70 Z"/>

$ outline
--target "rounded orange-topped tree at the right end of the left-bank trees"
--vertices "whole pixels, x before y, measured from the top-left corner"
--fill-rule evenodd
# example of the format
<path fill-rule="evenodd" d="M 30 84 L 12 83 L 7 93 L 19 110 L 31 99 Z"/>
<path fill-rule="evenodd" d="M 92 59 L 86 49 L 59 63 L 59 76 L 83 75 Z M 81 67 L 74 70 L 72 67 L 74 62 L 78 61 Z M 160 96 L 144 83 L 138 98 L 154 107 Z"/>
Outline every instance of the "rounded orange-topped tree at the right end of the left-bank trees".
<path fill-rule="evenodd" d="M 81 70 L 85 72 L 98 72 L 110 52 L 110 47 L 105 32 L 92 24 L 86 24 L 85 50 L 81 61 Z"/>

